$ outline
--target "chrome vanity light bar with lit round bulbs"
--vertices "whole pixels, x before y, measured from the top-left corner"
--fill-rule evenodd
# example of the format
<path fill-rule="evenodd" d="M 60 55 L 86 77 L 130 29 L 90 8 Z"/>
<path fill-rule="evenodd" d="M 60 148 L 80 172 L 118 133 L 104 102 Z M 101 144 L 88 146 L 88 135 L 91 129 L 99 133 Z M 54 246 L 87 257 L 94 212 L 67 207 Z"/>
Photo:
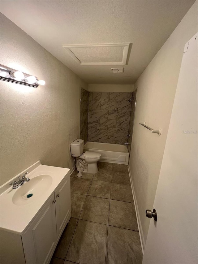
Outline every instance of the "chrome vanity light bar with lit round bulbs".
<path fill-rule="evenodd" d="M 38 87 L 44 85 L 44 80 L 38 80 L 37 77 L 29 75 L 22 71 L 17 71 L 12 68 L 0 64 L 0 80 L 23 84 L 31 87 Z"/>

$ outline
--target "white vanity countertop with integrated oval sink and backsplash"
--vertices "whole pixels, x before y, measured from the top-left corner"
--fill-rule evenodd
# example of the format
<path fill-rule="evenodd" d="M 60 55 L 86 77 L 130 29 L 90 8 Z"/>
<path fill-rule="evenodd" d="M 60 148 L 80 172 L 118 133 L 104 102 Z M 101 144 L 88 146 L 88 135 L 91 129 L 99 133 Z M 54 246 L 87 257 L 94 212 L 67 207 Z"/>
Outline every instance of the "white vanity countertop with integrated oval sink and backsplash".
<path fill-rule="evenodd" d="M 27 171 L 30 181 L 12 189 L 9 184 Z M 70 177 L 70 169 L 41 165 L 37 161 L 3 184 L 0 187 L 0 229 L 23 234 L 66 175 Z M 27 197 L 29 193 L 32 194 L 30 198 Z"/>

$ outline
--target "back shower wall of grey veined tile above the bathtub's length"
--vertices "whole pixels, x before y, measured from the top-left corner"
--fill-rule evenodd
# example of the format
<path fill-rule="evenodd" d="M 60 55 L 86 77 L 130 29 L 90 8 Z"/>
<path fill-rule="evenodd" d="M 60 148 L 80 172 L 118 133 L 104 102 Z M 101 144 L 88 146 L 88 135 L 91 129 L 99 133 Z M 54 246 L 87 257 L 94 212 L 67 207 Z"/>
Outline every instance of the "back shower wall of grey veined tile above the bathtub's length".
<path fill-rule="evenodd" d="M 88 141 L 127 142 L 132 93 L 89 92 Z"/>

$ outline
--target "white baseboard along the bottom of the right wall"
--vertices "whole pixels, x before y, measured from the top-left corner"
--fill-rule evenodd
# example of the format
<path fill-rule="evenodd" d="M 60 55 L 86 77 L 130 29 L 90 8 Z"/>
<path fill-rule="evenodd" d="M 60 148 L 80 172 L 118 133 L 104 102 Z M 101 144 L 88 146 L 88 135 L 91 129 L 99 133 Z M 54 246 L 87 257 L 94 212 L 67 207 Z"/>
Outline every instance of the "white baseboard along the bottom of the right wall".
<path fill-rule="evenodd" d="M 134 201 L 135 210 L 136 210 L 136 218 L 137 218 L 137 225 L 138 225 L 138 230 L 139 230 L 142 254 L 144 255 L 145 241 L 144 241 L 144 236 L 143 236 L 143 229 L 142 229 L 142 226 L 141 226 L 140 214 L 139 214 L 139 210 L 138 210 L 138 206 L 137 206 L 136 194 L 135 194 L 135 190 L 134 190 L 134 187 L 133 187 L 133 181 L 132 181 L 132 177 L 131 177 L 131 170 L 130 170 L 129 166 L 128 166 L 128 171 L 129 171 L 129 176 L 130 176 L 130 181 L 131 181 L 131 190 L 132 190 L 132 194 L 133 194 L 133 201 Z"/>

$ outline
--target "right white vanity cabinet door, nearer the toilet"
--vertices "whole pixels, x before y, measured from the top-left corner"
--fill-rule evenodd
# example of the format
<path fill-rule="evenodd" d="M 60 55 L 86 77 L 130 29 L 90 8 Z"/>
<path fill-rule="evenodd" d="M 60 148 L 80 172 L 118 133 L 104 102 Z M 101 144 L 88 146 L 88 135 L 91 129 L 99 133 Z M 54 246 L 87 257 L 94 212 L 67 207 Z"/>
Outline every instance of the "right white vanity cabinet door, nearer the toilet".
<path fill-rule="evenodd" d="M 57 236 L 61 235 L 71 217 L 70 173 L 55 190 Z"/>

